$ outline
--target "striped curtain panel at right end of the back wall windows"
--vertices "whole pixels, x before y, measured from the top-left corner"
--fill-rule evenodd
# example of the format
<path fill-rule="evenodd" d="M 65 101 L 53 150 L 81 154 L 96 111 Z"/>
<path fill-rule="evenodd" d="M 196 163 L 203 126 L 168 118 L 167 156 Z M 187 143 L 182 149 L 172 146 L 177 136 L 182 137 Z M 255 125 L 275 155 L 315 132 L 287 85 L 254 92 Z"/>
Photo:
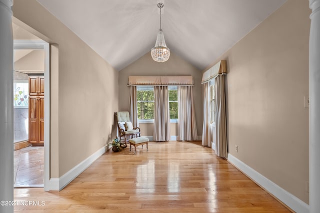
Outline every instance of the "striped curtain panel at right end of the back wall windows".
<path fill-rule="evenodd" d="M 178 86 L 178 141 L 197 140 L 192 86 Z"/>

